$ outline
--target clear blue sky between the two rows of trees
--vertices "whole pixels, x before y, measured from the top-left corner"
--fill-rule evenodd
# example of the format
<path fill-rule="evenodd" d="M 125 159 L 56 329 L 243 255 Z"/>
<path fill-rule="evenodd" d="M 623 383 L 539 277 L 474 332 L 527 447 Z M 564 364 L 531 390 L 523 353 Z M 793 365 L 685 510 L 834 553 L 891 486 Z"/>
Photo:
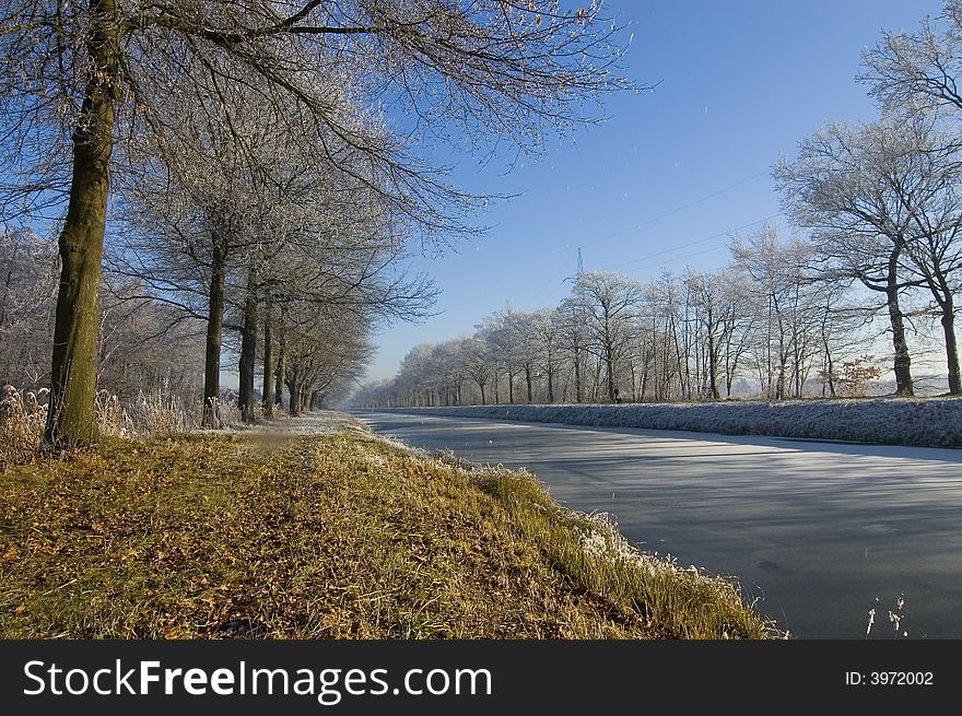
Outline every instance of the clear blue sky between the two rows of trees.
<path fill-rule="evenodd" d="M 414 263 L 443 291 L 439 315 L 375 336 L 368 379 L 392 376 L 418 343 L 471 333 L 507 301 L 555 305 L 578 247 L 585 269 L 646 281 L 662 268 L 720 268 L 739 227 L 772 218 L 787 228 L 772 165 L 828 119 L 871 120 L 855 82 L 861 49 L 940 10 L 940 0 L 607 0 L 605 14 L 633 33 L 624 74 L 657 87 L 611 97 L 605 124 L 552 140 L 507 176 L 461 162 L 458 183 L 524 196 L 482 218 L 494 224 L 483 238 Z"/>

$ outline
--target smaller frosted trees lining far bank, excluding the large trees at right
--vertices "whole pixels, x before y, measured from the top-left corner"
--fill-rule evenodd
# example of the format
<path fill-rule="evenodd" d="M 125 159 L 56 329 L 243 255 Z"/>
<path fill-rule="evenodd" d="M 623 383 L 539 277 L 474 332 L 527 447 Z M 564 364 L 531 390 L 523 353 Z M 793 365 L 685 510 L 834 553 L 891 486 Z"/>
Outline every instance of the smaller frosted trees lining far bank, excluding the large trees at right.
<path fill-rule="evenodd" d="M 415 347 L 363 407 L 488 402 L 773 400 L 846 395 L 870 308 L 812 273 L 811 247 L 773 226 L 732 242 L 715 273 L 641 283 L 589 271 L 554 308 L 506 307 L 470 337 Z"/>

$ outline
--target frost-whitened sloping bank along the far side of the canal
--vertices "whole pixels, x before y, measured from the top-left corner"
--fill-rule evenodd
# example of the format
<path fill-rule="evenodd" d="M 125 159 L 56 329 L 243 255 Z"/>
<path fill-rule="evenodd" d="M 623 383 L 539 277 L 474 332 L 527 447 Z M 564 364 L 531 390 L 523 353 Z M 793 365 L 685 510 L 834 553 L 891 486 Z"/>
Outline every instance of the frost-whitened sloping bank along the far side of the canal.
<path fill-rule="evenodd" d="M 962 447 L 962 398 L 403 408 L 397 412 L 532 423 Z"/>

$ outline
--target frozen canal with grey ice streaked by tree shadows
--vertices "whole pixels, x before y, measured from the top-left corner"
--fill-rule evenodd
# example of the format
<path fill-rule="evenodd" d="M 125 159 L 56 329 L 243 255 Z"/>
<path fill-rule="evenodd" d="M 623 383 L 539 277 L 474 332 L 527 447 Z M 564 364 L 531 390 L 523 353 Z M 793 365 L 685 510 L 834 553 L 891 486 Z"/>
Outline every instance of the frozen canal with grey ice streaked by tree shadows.
<path fill-rule="evenodd" d="M 962 450 L 356 413 L 524 466 L 643 549 L 738 578 L 797 638 L 962 638 Z M 898 608 L 900 596 L 904 607 Z"/>

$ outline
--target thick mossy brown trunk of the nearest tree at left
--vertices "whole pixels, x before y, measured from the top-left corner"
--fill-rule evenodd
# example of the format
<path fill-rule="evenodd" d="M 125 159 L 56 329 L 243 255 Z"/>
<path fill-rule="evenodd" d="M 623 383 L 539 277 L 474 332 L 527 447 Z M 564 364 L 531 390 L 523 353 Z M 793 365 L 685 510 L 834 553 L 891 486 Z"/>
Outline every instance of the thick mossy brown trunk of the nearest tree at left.
<path fill-rule="evenodd" d="M 86 52 L 93 68 L 72 137 L 70 200 L 59 240 L 60 286 L 44 431 L 44 442 L 55 447 L 86 445 L 97 437 L 97 297 L 119 93 L 116 0 L 90 0 L 90 15 L 94 23 Z"/>

